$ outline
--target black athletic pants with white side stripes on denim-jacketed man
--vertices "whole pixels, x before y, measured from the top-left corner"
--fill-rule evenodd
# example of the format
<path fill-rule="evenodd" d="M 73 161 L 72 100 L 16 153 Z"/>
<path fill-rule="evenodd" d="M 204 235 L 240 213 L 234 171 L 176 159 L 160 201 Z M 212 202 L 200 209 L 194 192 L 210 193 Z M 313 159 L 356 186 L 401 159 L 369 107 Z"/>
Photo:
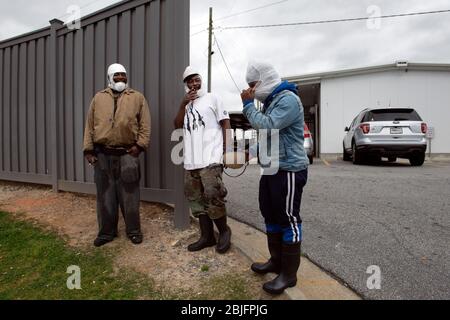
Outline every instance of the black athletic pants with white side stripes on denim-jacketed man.
<path fill-rule="evenodd" d="M 299 172 L 278 171 L 263 175 L 259 182 L 259 207 L 267 233 L 283 233 L 284 243 L 302 240 L 300 206 L 308 169 Z"/>

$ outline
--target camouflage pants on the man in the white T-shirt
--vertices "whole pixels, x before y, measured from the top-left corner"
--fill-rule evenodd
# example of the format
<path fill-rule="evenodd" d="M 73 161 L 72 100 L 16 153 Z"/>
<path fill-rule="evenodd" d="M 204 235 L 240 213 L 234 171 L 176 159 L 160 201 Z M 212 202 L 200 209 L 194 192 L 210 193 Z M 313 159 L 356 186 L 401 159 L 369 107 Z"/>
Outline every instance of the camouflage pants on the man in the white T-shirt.
<path fill-rule="evenodd" d="M 225 197 L 228 192 L 222 181 L 222 173 L 222 165 L 186 170 L 184 191 L 194 217 L 207 214 L 215 220 L 227 214 Z"/>

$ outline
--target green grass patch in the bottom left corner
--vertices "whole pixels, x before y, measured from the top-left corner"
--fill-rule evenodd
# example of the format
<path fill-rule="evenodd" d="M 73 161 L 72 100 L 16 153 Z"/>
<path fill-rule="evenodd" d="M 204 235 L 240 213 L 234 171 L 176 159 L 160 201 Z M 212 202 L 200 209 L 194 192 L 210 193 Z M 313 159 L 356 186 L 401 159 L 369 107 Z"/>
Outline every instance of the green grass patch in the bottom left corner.
<path fill-rule="evenodd" d="M 70 248 L 52 232 L 0 212 L 0 299 L 171 299 L 148 277 L 113 270 L 113 255 Z M 66 273 L 81 269 L 81 290 L 69 290 Z"/>

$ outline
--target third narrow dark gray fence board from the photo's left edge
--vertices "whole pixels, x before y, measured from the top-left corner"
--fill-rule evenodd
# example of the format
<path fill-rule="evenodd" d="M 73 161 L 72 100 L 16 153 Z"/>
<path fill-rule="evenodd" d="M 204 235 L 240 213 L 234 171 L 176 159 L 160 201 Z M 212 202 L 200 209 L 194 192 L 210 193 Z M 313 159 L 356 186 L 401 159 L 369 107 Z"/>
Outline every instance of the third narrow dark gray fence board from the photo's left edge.
<path fill-rule="evenodd" d="M 36 170 L 36 41 L 28 44 L 27 52 L 27 151 L 28 172 Z"/>

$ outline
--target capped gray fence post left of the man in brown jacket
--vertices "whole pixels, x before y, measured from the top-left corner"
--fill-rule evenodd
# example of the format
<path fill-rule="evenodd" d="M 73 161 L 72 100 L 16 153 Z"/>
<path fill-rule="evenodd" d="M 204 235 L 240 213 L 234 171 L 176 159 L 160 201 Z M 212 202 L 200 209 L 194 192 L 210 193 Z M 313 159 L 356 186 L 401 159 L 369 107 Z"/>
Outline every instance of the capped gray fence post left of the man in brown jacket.
<path fill-rule="evenodd" d="M 52 186 L 53 191 L 58 192 L 58 174 L 59 174 L 59 165 L 58 165 L 58 46 L 57 46 L 57 34 L 56 31 L 60 28 L 64 22 L 58 19 L 53 19 L 50 21 L 50 77 L 49 77 L 49 85 L 50 85 L 50 118 L 51 118 L 51 148 L 52 148 Z"/>

